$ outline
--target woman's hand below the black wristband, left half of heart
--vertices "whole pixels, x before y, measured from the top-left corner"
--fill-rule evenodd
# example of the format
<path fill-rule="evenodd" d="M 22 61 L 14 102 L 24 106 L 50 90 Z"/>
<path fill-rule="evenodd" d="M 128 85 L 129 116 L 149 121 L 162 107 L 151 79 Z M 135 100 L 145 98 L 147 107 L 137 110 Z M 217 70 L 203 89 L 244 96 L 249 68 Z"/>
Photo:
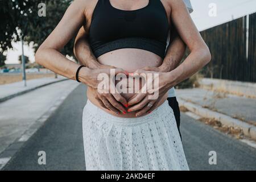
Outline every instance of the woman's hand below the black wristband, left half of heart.
<path fill-rule="evenodd" d="M 123 71 L 123 69 L 116 68 L 112 69 L 112 72 L 117 75 L 118 73 L 124 73 L 127 75 L 128 73 Z M 79 72 L 79 80 L 90 86 L 93 90 L 94 97 L 98 101 L 98 103 L 109 110 L 114 111 L 115 113 L 119 114 L 119 111 L 121 111 L 123 114 L 126 113 L 125 107 L 127 107 L 127 101 L 124 97 L 121 96 L 121 94 L 118 92 L 118 90 L 115 89 L 114 93 L 110 92 L 110 87 L 109 90 L 99 90 L 98 89 L 98 84 L 100 84 L 101 80 L 98 79 L 98 76 L 100 74 L 105 73 L 106 76 L 108 76 L 108 84 L 114 84 L 114 80 L 112 76 L 115 75 L 110 75 L 110 69 L 89 69 L 86 67 L 81 68 Z M 102 92 L 106 91 L 106 92 Z M 125 107 L 123 107 L 125 106 Z"/>

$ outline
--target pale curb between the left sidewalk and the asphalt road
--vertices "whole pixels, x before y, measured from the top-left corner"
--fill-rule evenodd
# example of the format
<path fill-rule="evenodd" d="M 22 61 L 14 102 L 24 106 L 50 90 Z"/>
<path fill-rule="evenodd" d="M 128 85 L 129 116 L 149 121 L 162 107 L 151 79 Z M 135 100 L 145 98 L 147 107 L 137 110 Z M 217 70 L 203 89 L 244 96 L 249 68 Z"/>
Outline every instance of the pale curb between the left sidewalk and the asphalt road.
<path fill-rule="evenodd" d="M 64 79 L 64 80 L 67 80 L 67 79 Z M 60 81 L 64 81 L 64 80 L 60 80 Z M 56 82 L 59 82 L 59 81 L 56 81 Z M 53 82 L 51 82 L 49 84 L 53 84 Z M 77 86 L 79 86 L 79 84 L 77 84 Z M 77 86 L 75 86 L 74 88 L 72 88 L 71 90 L 68 90 L 68 92 L 63 94 L 63 96 L 61 96 L 55 102 L 54 105 L 49 107 L 49 109 L 46 111 L 46 113 L 44 113 L 43 115 L 41 115 L 40 118 L 38 118 L 36 121 L 34 121 L 34 123 L 32 123 L 30 125 L 30 127 L 26 131 L 24 131 L 24 133 L 18 139 L 16 139 L 13 143 L 11 143 L 10 146 L 8 146 L 0 154 L 0 171 L 13 158 L 13 156 L 16 154 L 16 152 L 18 152 L 20 150 L 20 148 L 23 147 L 23 144 L 26 143 L 27 140 L 30 139 L 30 137 L 32 137 L 32 135 L 34 135 L 36 133 L 36 131 L 38 131 L 38 129 L 41 126 L 43 126 L 44 122 L 46 122 L 47 119 L 49 117 L 51 117 L 51 115 L 53 113 L 55 113 L 55 111 L 60 107 L 60 105 L 64 102 L 64 100 L 69 96 L 69 94 L 71 94 L 73 92 L 73 90 L 75 90 L 77 88 Z M 42 87 L 42 85 L 39 87 Z"/>

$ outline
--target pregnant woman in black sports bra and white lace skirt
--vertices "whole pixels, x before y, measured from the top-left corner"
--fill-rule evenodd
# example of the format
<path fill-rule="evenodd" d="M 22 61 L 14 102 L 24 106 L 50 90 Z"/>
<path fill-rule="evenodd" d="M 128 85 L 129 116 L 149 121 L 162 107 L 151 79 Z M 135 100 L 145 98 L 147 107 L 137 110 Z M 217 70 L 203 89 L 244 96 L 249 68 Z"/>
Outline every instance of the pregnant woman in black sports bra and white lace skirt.
<path fill-rule="evenodd" d="M 187 59 L 171 72 L 141 70 L 162 64 L 172 24 L 191 51 Z M 94 56 L 101 64 L 115 67 L 115 74 L 158 74 L 154 93 L 159 97 L 150 100 L 152 90 L 143 94 L 95 92 L 98 75 L 110 75 L 110 69 L 81 67 L 60 53 L 81 26 L 89 32 Z M 210 53 L 183 1 L 76 0 L 35 59 L 53 72 L 88 85 L 82 121 L 86 169 L 188 170 L 167 92 L 203 68 Z"/>

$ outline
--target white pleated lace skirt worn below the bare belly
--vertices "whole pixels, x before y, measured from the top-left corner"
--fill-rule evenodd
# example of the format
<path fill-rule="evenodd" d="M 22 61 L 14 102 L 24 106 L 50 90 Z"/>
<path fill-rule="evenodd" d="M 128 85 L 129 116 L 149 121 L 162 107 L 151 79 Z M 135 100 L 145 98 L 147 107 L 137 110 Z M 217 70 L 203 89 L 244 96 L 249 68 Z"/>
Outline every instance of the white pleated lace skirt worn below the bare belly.
<path fill-rule="evenodd" d="M 86 170 L 188 170 L 174 113 L 164 102 L 119 118 L 87 101 L 82 116 Z"/>

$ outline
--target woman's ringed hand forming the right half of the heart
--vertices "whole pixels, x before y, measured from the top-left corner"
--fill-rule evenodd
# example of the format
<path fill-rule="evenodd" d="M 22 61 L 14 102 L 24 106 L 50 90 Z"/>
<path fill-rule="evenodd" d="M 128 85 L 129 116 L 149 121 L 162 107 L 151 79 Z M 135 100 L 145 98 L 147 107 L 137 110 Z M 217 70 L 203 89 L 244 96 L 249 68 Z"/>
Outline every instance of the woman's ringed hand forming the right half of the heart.
<path fill-rule="evenodd" d="M 133 75 L 136 77 L 141 73 L 145 73 L 146 75 L 148 74 L 147 80 L 149 75 L 153 74 L 153 76 L 152 81 L 147 81 L 147 84 L 142 87 L 139 93 L 135 94 L 128 101 L 128 105 L 131 106 L 128 111 L 138 111 L 136 113 L 137 117 L 145 113 L 151 113 L 152 110 L 156 109 L 164 94 L 166 94 L 173 86 L 170 82 L 168 73 L 144 71 L 143 69 L 139 69 L 134 72 Z M 153 86 L 153 84 L 155 86 Z"/>

